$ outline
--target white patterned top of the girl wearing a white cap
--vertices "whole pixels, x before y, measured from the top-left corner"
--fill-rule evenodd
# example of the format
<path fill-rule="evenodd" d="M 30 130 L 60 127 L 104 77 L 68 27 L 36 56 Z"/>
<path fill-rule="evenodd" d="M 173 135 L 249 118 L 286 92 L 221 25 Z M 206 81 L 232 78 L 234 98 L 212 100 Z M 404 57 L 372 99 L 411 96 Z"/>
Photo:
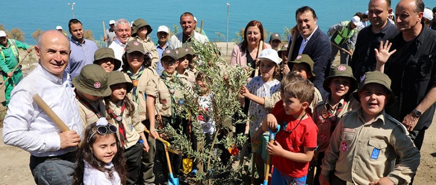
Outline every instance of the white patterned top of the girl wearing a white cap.
<path fill-rule="evenodd" d="M 280 81 L 273 79 L 268 82 L 264 82 L 262 77 L 253 77 L 247 84 L 247 89 L 250 93 L 259 96 L 267 97 L 276 93 L 280 88 Z M 270 109 L 266 109 L 263 105 L 259 105 L 253 101 L 250 102 L 250 134 L 254 134 L 257 129 L 262 125 L 266 115 L 270 112 Z"/>

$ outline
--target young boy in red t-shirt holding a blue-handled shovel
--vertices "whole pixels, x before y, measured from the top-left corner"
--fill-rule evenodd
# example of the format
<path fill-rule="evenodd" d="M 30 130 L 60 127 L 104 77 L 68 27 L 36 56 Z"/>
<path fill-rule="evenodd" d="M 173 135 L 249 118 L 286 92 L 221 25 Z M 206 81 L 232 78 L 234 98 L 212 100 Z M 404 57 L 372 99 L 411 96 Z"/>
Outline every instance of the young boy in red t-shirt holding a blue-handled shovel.
<path fill-rule="evenodd" d="M 313 84 L 307 79 L 295 80 L 283 89 L 282 105 L 276 104 L 263 122 L 262 131 L 280 124 L 274 143 L 268 143 L 272 154 L 272 185 L 305 185 L 309 162 L 317 143 L 318 128 L 306 112 L 313 100 Z"/>

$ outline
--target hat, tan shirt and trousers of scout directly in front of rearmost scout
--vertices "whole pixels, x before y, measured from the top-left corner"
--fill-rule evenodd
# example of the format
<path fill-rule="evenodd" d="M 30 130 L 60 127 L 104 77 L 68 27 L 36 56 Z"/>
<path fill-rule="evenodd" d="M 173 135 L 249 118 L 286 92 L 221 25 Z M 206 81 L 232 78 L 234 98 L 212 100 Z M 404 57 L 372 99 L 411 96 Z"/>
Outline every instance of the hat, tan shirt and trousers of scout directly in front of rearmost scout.
<path fill-rule="evenodd" d="M 134 51 L 139 51 L 144 55 L 146 54 L 144 52 L 142 44 L 137 40 L 130 41 L 125 46 L 126 53 L 132 53 Z M 146 98 L 147 95 L 153 96 L 155 98 L 157 97 L 157 87 L 155 79 L 157 73 L 154 69 L 151 69 L 150 67 L 145 68 L 143 66 L 142 69 L 138 70 L 136 74 L 132 74 L 129 71 L 129 67 L 127 67 L 127 69 L 125 70 L 127 71 L 127 74 L 125 74 L 126 80 L 133 83 L 133 91 L 132 93 L 128 93 L 127 95 L 134 102 L 138 103 L 139 119 L 146 127 L 149 128 L 150 122 L 147 115 Z M 154 115 L 156 116 L 156 111 L 154 112 Z M 151 130 L 151 132 L 153 132 L 153 130 Z M 142 153 L 142 180 L 145 183 L 151 184 L 155 181 L 155 174 L 153 173 L 153 161 L 156 154 L 156 140 L 152 137 L 149 137 L 148 134 L 145 134 L 145 136 L 147 137 L 150 149 L 148 153 Z"/>

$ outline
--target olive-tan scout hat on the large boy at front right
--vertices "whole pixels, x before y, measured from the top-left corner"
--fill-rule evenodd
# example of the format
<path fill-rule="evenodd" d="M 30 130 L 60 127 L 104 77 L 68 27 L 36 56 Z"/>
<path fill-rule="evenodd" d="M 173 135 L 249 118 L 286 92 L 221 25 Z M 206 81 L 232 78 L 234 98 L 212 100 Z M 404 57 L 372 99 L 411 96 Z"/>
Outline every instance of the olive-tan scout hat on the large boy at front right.
<path fill-rule="evenodd" d="M 390 94 L 390 98 L 388 103 L 386 104 L 386 107 L 390 107 L 395 104 L 396 101 L 395 94 L 392 92 L 392 90 L 390 90 L 391 80 L 388 77 L 388 75 L 381 73 L 380 71 L 366 72 L 362 77 L 360 77 L 360 84 L 358 87 L 358 91 L 353 93 L 353 96 L 356 100 L 360 102 L 358 92 L 362 91 L 363 87 L 370 83 L 377 83 L 386 87 L 388 93 Z"/>

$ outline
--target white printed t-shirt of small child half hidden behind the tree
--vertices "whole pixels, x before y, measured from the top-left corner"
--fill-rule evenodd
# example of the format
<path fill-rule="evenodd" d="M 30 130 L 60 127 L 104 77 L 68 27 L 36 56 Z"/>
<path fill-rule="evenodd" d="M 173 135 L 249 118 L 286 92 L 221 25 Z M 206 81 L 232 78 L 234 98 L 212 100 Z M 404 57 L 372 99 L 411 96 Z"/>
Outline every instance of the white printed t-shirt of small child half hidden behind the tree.
<path fill-rule="evenodd" d="M 212 101 L 214 99 L 214 94 L 209 93 L 205 96 L 198 97 L 198 103 L 200 107 L 206 112 L 212 112 Z M 202 125 L 203 133 L 213 133 L 215 131 L 215 121 L 209 117 L 208 114 L 198 115 L 198 122 Z"/>

